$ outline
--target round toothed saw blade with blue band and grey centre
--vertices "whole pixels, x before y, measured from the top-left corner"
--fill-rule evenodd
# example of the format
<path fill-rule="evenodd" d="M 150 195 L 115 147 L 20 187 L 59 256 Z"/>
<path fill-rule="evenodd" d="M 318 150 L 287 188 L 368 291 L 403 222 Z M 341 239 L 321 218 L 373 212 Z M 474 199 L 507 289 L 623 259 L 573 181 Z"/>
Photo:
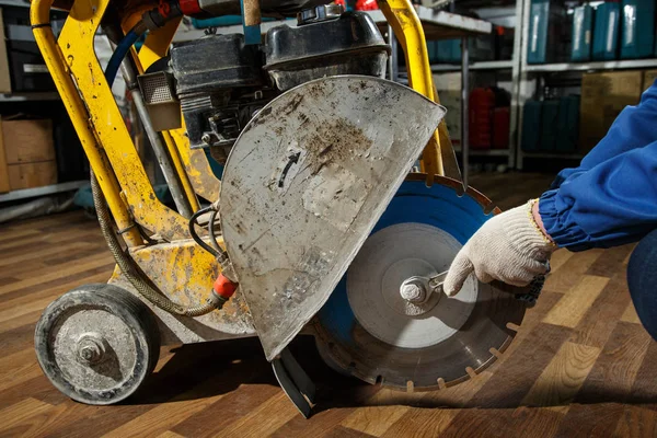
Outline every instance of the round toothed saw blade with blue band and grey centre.
<path fill-rule="evenodd" d="M 474 278 L 429 312 L 399 309 L 396 283 L 446 270 L 489 218 L 489 200 L 471 188 L 459 196 L 459 187 L 448 178 L 402 185 L 316 315 L 318 348 L 333 368 L 370 383 L 434 390 L 468 380 L 507 348 L 526 308 Z"/>

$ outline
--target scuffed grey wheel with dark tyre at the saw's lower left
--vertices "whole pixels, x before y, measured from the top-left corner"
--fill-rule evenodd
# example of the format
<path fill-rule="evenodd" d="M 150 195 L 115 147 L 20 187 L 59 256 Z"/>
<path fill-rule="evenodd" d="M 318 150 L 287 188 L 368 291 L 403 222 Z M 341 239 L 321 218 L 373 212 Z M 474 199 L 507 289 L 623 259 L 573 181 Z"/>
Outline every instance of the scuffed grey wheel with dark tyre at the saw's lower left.
<path fill-rule="evenodd" d="M 106 405 L 131 395 L 151 373 L 160 332 L 151 310 L 112 285 L 85 285 L 53 301 L 34 334 L 46 377 L 69 397 Z"/>

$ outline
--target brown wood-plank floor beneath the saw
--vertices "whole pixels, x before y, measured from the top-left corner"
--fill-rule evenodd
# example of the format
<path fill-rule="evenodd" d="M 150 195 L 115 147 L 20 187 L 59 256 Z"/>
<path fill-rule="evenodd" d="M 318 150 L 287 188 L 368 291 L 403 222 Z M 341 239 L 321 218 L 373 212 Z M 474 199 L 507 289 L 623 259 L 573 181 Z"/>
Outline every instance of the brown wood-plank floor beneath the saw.
<path fill-rule="evenodd" d="M 494 175 L 473 185 L 503 207 L 550 178 Z M 303 419 L 256 339 L 163 348 L 129 401 L 73 403 L 42 374 L 34 324 L 56 297 L 104 281 L 114 266 L 81 211 L 0 226 L 0 435 L 58 437 L 569 437 L 657 436 L 657 343 L 641 326 L 624 277 L 631 246 L 558 251 L 538 306 L 504 358 L 431 393 L 381 390 L 325 367 L 312 339 L 293 351 L 316 381 Z"/>

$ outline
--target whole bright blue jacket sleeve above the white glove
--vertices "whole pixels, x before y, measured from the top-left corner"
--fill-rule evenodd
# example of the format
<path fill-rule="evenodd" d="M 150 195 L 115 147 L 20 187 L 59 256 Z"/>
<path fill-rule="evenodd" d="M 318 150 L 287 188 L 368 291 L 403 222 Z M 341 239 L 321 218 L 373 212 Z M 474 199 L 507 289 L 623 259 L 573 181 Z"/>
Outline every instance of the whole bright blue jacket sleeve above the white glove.
<path fill-rule="evenodd" d="M 657 81 L 578 168 L 557 175 L 539 212 L 545 231 L 570 251 L 636 242 L 657 228 Z"/>

